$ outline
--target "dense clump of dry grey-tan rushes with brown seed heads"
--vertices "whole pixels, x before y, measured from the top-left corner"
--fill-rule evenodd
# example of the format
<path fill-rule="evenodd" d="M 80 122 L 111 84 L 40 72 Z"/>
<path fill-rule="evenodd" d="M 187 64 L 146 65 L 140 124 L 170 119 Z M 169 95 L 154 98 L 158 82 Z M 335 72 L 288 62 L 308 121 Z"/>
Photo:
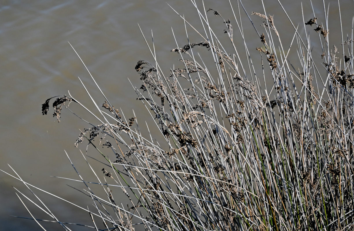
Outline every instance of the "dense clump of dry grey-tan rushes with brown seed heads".
<path fill-rule="evenodd" d="M 318 24 L 319 16 L 304 16 L 299 27 L 313 31 L 317 25 L 321 35 L 302 37 L 299 28 L 288 28 L 284 35 L 293 39 L 284 49 L 275 17 L 252 13 L 254 24 L 263 21 L 261 32 L 255 28 L 259 47 L 245 42 L 238 49 L 257 49 L 262 63 L 254 62 L 248 53 L 241 59 L 234 45 L 232 21 L 239 25 L 238 18 L 226 21 L 213 9 L 198 13 L 205 28 L 197 31 L 201 41 L 172 50 L 180 68 L 162 73 L 153 52 L 153 63 L 136 65 L 142 85 L 135 91 L 155 121 L 155 134 L 143 136 L 139 117 L 127 119 L 108 98 L 102 108 L 91 98 L 98 113 L 87 111 L 100 122 L 90 122 L 75 145 L 88 142 L 107 161 L 103 174 L 92 170 L 105 197 L 85 181 L 85 194 L 95 206 L 82 209 L 95 229 L 353 229 L 353 38 L 338 50 L 328 42 L 327 24 Z M 209 27 L 205 18 L 213 13 L 228 36 L 216 36 Z M 317 63 L 309 46 L 312 36 L 323 51 Z M 225 51 L 221 39 L 234 50 Z M 213 60 L 207 67 L 196 56 L 202 49 Z M 292 50 L 297 50 L 297 69 L 290 63 Z M 273 79 L 270 87 L 260 83 L 266 75 Z M 53 105 L 58 119 L 66 101 L 83 106 L 72 96 L 58 98 Z M 118 197 L 121 190 L 125 199 Z"/>

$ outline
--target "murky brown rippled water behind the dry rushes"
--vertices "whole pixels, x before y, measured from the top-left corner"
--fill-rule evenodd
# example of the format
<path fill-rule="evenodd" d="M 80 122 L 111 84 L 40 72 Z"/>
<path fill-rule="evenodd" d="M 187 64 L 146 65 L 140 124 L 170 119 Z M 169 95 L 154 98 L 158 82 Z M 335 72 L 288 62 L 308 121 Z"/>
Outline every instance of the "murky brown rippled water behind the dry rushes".
<path fill-rule="evenodd" d="M 171 27 L 176 34 L 179 45 L 187 44 L 184 24 L 181 18 L 165 3 L 166 0 L 132 0 L 132 1 L 2 1 L 0 5 L 0 104 L 1 104 L 1 162 L 0 169 L 11 172 L 10 164 L 17 173 L 29 183 L 42 189 L 56 193 L 68 200 L 76 201 L 81 206 L 91 204 L 85 201 L 78 191 L 66 184 L 77 186 L 70 181 L 52 178 L 60 176 L 78 179 L 71 167 L 64 150 L 73 159 L 81 174 L 89 179 L 86 173 L 86 163 L 82 161 L 79 149 L 74 148 L 74 142 L 79 129 L 86 124 L 68 111 L 63 111 L 62 122 L 57 123 L 51 115 L 41 115 L 41 104 L 52 96 L 67 94 L 69 90 L 75 98 L 84 104 L 90 103 L 87 94 L 81 86 L 79 76 L 90 89 L 98 103 L 102 97 L 94 87 L 87 71 L 72 50 L 68 41 L 80 54 L 103 92 L 111 103 L 121 107 L 127 115 L 132 109 L 141 116 L 141 123 L 146 111 L 136 99 L 132 84 L 139 86 L 139 76 L 134 67 L 139 59 L 150 60 L 152 57 L 144 44 L 138 23 L 143 33 L 151 42 L 151 30 L 154 33 L 156 54 L 160 65 L 169 71 L 173 64 L 179 65 L 176 54 L 170 50 L 176 47 Z M 199 26 L 199 18 L 188 0 L 168 1 L 194 25 Z M 199 4 L 201 1 L 197 1 Z M 218 10 L 225 19 L 234 20 L 228 1 L 206 0 L 205 7 Z M 233 7 L 237 9 L 237 2 Z M 293 36 L 293 28 L 289 26 L 284 12 L 277 1 L 264 1 L 265 10 L 275 15 L 275 25 L 285 39 L 283 46 L 288 46 Z M 315 13 L 320 22 L 324 22 L 322 1 L 315 0 Z M 329 1 L 326 1 L 329 2 Z M 350 34 L 353 1 L 340 1 L 344 37 Z M 330 41 L 339 47 L 340 38 L 337 1 L 330 1 Z M 248 13 L 264 12 L 260 0 L 244 1 Z M 296 1 L 284 1 L 284 7 L 296 23 L 300 23 L 299 31 L 304 34 L 301 15 L 301 5 Z M 313 17 L 309 1 L 303 3 L 305 20 Z M 221 19 L 208 14 L 210 21 L 216 27 L 223 27 Z M 260 46 L 249 20 L 242 11 L 244 30 L 250 35 L 247 39 L 250 47 Z M 349 18 L 348 18 L 349 17 Z M 261 24 L 256 16 L 252 18 Z M 234 26 L 234 36 L 236 25 Z M 259 27 L 258 27 L 259 28 Z M 199 42 L 192 30 L 189 30 L 190 40 Z M 222 30 L 221 30 L 222 31 Z M 289 31 L 289 34 L 284 33 Z M 220 35 L 224 36 L 224 35 Z M 243 51 L 242 40 L 239 39 L 240 51 Z M 313 44 L 316 47 L 316 44 Z M 318 47 L 318 46 L 317 46 Z M 319 54 L 322 52 L 319 51 Z M 259 54 L 255 53 L 257 56 Z M 77 107 L 72 107 L 78 110 Z M 50 111 L 50 114 L 52 110 Z M 85 115 L 85 114 L 81 114 Z M 86 117 L 85 117 L 86 118 Z M 139 117 L 138 117 L 139 118 Z M 87 117 L 90 119 L 90 117 Z M 79 148 L 85 151 L 85 146 Z M 92 152 L 95 153 L 95 152 Z M 95 153 L 96 154 L 96 153 Z M 100 167 L 99 165 L 97 165 Z M 38 230 L 34 221 L 12 218 L 7 215 L 29 217 L 28 212 L 15 195 L 14 186 L 21 191 L 25 187 L 19 181 L 1 173 L 1 203 L 0 226 L 4 230 Z M 42 195 L 42 194 L 40 194 Z M 61 214 L 63 221 L 89 223 L 86 213 L 77 215 L 78 210 L 67 204 L 43 196 L 51 209 Z M 54 206 L 55 205 L 55 206 Z M 33 208 L 33 206 L 29 206 Z M 33 209 L 32 209 L 33 210 Z M 34 209 L 33 211 L 38 211 Z M 47 218 L 43 213 L 34 212 L 38 218 Z M 45 224 L 47 225 L 47 224 Z M 51 227 L 51 226 L 46 226 Z M 58 228 L 59 226 L 54 226 Z M 73 230 L 80 230 L 73 227 Z M 85 229 L 83 229 L 85 230 Z"/>

